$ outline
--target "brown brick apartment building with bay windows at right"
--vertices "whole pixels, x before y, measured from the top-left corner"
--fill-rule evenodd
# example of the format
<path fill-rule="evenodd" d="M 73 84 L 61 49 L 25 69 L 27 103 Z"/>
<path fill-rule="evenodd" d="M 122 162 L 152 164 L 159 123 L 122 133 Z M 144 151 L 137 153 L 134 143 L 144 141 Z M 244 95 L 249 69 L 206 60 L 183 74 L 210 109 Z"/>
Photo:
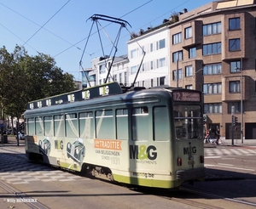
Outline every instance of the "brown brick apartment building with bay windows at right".
<path fill-rule="evenodd" d="M 213 135 L 220 128 L 232 138 L 234 115 L 234 138 L 256 138 L 255 20 L 253 0 L 218 1 L 180 14 L 169 27 L 171 86 L 204 93 Z"/>

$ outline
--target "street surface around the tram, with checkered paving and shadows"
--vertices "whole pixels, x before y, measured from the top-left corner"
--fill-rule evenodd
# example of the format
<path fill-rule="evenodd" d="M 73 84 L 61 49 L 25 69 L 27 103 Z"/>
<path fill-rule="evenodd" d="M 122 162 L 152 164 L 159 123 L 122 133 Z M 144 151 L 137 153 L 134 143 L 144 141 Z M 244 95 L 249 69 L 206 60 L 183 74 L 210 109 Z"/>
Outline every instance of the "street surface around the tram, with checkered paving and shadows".
<path fill-rule="evenodd" d="M 0 208 L 255 208 L 256 146 L 205 147 L 207 178 L 178 191 L 128 188 L 27 161 L 0 144 Z M 17 201 L 32 202 L 17 202 Z M 36 201 L 36 202 L 33 202 Z"/>

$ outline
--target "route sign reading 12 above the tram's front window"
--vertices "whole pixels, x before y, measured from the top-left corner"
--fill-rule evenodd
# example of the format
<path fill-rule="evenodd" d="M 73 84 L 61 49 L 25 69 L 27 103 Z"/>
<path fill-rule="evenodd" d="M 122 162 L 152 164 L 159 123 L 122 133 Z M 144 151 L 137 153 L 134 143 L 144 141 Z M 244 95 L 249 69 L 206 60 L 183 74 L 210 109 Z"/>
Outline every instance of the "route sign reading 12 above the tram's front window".
<path fill-rule="evenodd" d="M 173 92 L 172 98 L 174 101 L 188 101 L 188 102 L 200 102 L 201 101 L 201 94 L 198 92 Z"/>

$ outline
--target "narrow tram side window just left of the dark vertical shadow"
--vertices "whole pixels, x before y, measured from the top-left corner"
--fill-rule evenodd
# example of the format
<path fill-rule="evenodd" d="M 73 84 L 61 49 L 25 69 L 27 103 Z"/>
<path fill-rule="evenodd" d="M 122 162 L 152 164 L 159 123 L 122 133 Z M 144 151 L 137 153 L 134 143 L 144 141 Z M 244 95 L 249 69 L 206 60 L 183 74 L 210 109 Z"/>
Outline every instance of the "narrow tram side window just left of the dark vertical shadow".
<path fill-rule="evenodd" d="M 128 110 L 116 110 L 116 132 L 118 139 L 128 139 Z"/>

